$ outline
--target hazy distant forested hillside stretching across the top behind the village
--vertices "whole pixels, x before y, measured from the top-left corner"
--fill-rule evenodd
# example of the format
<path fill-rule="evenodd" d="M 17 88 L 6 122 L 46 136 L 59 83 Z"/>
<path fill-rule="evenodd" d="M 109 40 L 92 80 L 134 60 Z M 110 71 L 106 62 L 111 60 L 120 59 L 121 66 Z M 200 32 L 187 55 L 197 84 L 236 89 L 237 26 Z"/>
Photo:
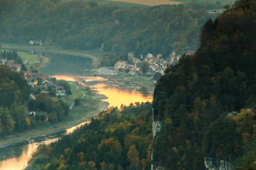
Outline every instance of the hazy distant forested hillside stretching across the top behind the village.
<path fill-rule="evenodd" d="M 172 50 L 183 54 L 198 47 L 199 30 L 213 4 L 162 5 L 148 8 L 124 8 L 94 1 L 1 0 L 0 38 L 3 42 L 28 44 L 43 40 L 64 49 L 102 48 L 108 52 L 102 65 L 113 66 L 135 56 Z"/>

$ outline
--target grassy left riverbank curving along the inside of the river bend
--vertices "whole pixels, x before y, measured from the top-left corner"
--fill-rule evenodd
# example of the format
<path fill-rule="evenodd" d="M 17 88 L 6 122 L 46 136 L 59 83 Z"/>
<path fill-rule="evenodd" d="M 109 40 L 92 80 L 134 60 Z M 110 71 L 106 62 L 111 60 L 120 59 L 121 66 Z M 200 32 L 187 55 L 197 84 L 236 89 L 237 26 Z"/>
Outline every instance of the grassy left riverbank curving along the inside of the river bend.
<path fill-rule="evenodd" d="M 65 118 L 63 122 L 55 123 L 55 124 L 37 125 L 33 130 L 16 132 L 15 134 L 2 137 L 0 139 L 0 148 L 12 145 L 16 142 L 28 140 L 31 137 L 49 135 L 55 132 L 66 130 L 75 125 L 79 125 L 80 123 L 90 120 L 93 117 L 97 117 L 97 115 L 101 111 L 107 108 L 109 103 L 105 101 L 101 101 L 102 99 L 105 99 L 106 96 L 97 94 L 95 93 L 95 91 L 90 91 L 88 94 L 88 91 L 85 91 L 85 86 L 82 86 L 81 84 L 76 84 L 76 85 L 79 86 L 79 89 L 85 93 L 85 97 L 80 99 L 81 100 L 80 106 L 73 107 L 73 109 L 70 111 L 70 114 L 68 115 L 68 117 Z M 80 91 L 75 92 L 74 89 L 76 90 L 76 86 L 72 86 L 72 89 L 71 89 L 71 91 L 73 91 L 73 94 L 74 94 L 73 97 L 70 96 L 69 98 L 61 98 L 61 99 L 64 102 L 67 102 L 68 104 L 70 104 L 70 102 L 73 101 L 74 98 L 77 98 L 78 96 L 82 96 Z M 93 107 L 88 107 L 88 106 L 93 106 Z"/>

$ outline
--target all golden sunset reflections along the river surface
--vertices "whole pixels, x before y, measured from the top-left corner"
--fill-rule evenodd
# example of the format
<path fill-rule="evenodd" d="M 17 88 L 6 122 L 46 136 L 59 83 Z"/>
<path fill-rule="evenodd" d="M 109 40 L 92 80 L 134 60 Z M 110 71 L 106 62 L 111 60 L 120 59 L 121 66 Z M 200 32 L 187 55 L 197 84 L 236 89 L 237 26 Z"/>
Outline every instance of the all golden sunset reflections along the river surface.
<path fill-rule="evenodd" d="M 56 79 L 64 79 L 66 81 L 77 81 L 78 78 L 85 79 L 86 81 L 105 81 L 102 77 L 73 77 L 68 75 L 55 75 L 53 76 Z M 142 94 L 137 93 L 136 91 L 122 91 L 119 89 L 114 88 L 108 88 L 105 84 L 96 84 L 95 86 L 91 86 L 93 89 L 97 90 L 99 94 L 104 94 L 107 96 L 107 99 L 104 99 L 102 101 L 107 101 L 110 103 L 110 106 L 121 106 L 122 104 L 129 106 L 129 103 L 135 103 L 135 102 L 151 102 L 153 100 L 152 96 L 143 96 Z M 76 125 L 72 128 L 69 128 L 66 130 L 66 134 L 70 134 L 73 132 L 76 128 L 79 128 L 82 125 L 85 125 L 85 123 L 90 123 L 90 121 L 81 123 L 80 125 Z M 26 166 L 28 166 L 28 161 L 31 159 L 31 156 L 34 152 L 36 152 L 37 148 L 41 144 L 49 144 L 50 142 L 54 142 L 55 140 L 58 140 L 58 138 L 55 138 L 53 140 L 46 140 L 41 143 L 30 143 L 23 149 L 23 153 L 21 157 L 15 157 L 11 159 L 6 159 L 2 162 L 0 162 L 0 170 L 22 170 L 25 169 Z"/>

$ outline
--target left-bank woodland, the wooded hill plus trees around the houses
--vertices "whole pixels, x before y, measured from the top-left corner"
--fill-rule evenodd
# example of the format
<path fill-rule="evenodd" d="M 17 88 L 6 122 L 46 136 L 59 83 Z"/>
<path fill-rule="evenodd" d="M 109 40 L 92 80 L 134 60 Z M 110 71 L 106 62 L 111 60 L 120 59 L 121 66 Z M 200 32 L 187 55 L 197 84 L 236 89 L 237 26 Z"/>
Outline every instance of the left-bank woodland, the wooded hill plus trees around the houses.
<path fill-rule="evenodd" d="M 1 52 L 0 57 L 23 63 L 16 51 Z M 38 94 L 35 100 L 29 98 L 31 87 L 21 73 L 0 64 L 0 138 L 13 132 L 30 130 L 39 124 L 61 122 L 69 114 L 66 103 L 54 101 L 47 94 Z M 59 81 L 58 84 L 70 91 L 66 81 Z M 36 115 L 28 116 L 31 111 Z"/>

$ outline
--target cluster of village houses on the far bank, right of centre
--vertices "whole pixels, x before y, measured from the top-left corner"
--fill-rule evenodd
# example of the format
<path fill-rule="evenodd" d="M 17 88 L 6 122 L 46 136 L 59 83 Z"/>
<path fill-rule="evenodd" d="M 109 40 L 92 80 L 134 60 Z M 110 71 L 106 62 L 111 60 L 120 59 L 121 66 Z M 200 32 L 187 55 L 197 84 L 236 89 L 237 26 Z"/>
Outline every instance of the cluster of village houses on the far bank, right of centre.
<path fill-rule="evenodd" d="M 172 52 L 171 58 L 169 60 L 164 60 L 161 54 L 154 57 L 151 53 L 148 53 L 146 57 L 141 55 L 139 58 L 137 58 L 134 57 L 134 52 L 129 52 L 128 57 L 129 61 L 132 61 L 132 64 L 129 64 L 128 61 L 118 61 L 116 64 L 114 64 L 114 68 L 117 70 L 129 72 L 129 74 L 142 74 L 142 63 L 148 62 L 149 71 L 146 74 L 154 75 L 156 72 L 164 74 L 164 69 L 166 69 L 169 65 L 177 62 L 180 56 L 176 56 L 175 52 Z"/>

